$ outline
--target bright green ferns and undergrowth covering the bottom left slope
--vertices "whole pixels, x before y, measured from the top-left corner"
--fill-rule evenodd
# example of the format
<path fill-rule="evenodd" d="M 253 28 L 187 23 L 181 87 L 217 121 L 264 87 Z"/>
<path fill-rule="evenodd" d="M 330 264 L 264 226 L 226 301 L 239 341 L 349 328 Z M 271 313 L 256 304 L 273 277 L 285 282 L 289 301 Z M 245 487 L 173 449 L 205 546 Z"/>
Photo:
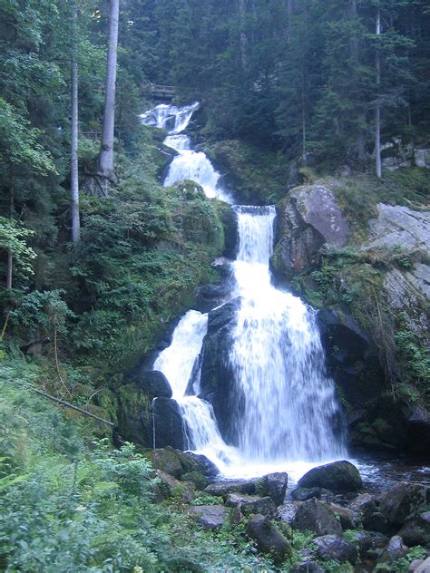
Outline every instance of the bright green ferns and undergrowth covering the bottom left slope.
<path fill-rule="evenodd" d="M 89 441 L 32 392 L 39 369 L 0 365 L 0 563 L 25 571 L 270 570 L 243 532 L 213 534 L 181 505 L 152 502 L 148 461 Z"/>

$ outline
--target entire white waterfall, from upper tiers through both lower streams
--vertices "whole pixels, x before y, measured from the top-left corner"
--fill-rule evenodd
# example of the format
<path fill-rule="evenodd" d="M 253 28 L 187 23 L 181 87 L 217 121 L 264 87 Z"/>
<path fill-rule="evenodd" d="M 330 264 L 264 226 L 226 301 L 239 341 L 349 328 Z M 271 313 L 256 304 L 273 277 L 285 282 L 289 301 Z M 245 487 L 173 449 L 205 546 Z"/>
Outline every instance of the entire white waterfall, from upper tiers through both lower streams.
<path fill-rule="evenodd" d="M 143 114 L 142 121 L 172 126 L 165 143 L 179 155 L 171 163 L 165 185 L 191 179 L 208 197 L 231 203 L 210 160 L 203 152 L 191 151 L 190 139 L 181 133 L 197 106 L 161 105 Z M 235 445 L 224 441 L 212 405 L 199 397 L 208 315 L 191 310 L 183 316 L 171 345 L 158 355 L 153 369 L 165 374 L 171 384 L 188 448 L 205 454 L 224 475 L 259 475 L 272 468 L 291 471 L 295 465 L 302 473 L 311 465 L 347 456 L 342 416 L 334 383 L 325 371 L 316 313 L 298 296 L 271 283 L 275 208 L 232 209 L 239 234 L 229 296 L 238 301 L 228 356 L 233 388 L 229 415 Z"/>

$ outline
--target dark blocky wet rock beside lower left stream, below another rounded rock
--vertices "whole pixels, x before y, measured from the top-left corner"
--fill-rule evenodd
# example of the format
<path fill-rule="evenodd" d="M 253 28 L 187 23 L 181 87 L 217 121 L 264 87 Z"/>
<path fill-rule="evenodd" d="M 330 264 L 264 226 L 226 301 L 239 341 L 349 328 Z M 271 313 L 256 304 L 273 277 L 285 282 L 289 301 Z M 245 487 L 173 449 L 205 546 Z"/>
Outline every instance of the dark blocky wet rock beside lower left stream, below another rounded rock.
<path fill-rule="evenodd" d="M 185 449 L 185 434 L 181 411 L 176 400 L 155 398 L 152 402 L 153 432 L 155 447 L 171 446 Z"/>

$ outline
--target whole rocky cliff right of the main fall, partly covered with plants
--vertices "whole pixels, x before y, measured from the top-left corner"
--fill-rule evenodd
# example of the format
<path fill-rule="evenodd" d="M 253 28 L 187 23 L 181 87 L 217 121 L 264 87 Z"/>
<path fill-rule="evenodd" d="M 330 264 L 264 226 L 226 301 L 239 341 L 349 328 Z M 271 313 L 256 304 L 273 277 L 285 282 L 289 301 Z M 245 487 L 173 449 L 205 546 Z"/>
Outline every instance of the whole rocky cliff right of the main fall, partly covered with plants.
<path fill-rule="evenodd" d="M 430 414 L 419 353 L 428 343 L 430 214 L 377 203 L 357 233 L 340 188 L 316 182 L 280 201 L 273 268 L 321 307 L 327 368 L 352 442 L 424 452 Z"/>

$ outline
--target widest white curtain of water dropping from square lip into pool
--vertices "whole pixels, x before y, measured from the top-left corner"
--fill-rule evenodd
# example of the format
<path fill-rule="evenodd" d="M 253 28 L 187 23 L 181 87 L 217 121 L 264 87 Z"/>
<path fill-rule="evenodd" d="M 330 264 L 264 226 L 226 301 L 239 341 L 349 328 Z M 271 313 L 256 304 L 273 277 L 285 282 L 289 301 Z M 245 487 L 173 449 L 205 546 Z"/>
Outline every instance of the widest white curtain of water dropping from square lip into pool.
<path fill-rule="evenodd" d="M 237 207 L 241 297 L 232 334 L 239 450 L 254 461 L 316 461 L 345 454 L 314 314 L 270 282 L 273 207 Z M 244 404 L 244 407 L 239 407 Z"/>

